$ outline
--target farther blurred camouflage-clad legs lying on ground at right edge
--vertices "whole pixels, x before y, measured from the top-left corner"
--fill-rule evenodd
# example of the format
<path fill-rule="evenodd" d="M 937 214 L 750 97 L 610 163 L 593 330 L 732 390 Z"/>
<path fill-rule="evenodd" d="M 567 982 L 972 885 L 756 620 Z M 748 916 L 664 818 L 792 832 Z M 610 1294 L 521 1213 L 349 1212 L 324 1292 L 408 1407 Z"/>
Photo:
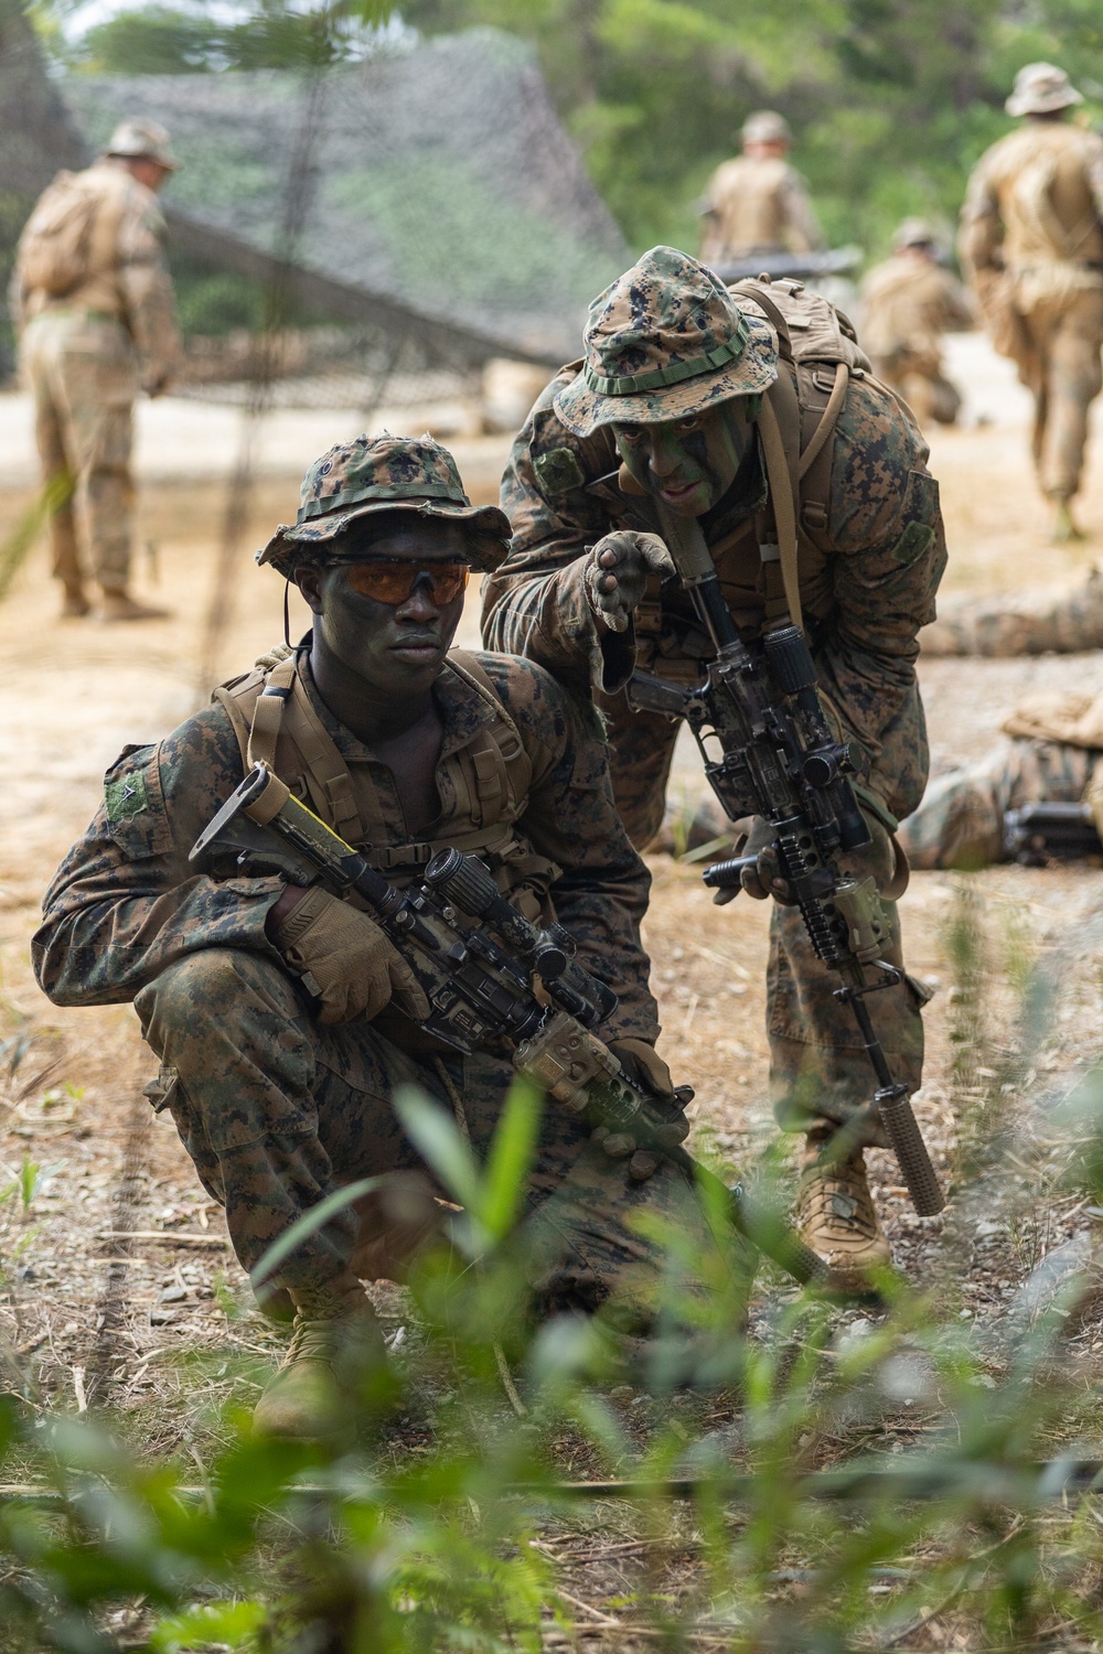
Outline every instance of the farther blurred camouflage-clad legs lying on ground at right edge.
<path fill-rule="evenodd" d="M 1075 655 L 1103 648 L 1103 567 L 1072 587 L 954 595 L 939 604 L 938 620 L 919 633 L 924 655 Z"/>

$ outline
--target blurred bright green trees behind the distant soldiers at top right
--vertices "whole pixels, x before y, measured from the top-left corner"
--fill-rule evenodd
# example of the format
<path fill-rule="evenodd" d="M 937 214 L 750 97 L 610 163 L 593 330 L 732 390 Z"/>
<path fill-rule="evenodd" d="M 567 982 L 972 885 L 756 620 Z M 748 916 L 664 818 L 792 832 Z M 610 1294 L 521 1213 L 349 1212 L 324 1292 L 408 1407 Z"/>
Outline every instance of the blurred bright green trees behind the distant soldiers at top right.
<path fill-rule="evenodd" d="M 494 23 L 534 41 L 638 246 L 696 246 L 695 200 L 756 108 L 794 126 L 832 241 L 881 253 L 906 213 L 953 223 L 1024 63 L 1053 58 L 1103 101 L 1091 0 L 407 0 L 402 15 L 427 33 Z"/>

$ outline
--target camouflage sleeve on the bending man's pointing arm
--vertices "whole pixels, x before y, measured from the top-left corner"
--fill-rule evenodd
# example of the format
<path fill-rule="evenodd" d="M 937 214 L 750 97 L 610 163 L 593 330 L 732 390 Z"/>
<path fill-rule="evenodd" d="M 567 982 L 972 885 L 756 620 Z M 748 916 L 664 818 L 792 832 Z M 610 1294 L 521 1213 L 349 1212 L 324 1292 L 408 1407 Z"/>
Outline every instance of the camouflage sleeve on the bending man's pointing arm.
<path fill-rule="evenodd" d="M 483 642 L 536 660 L 589 698 L 590 685 L 625 681 L 635 645 L 630 633 L 599 625 L 582 582 L 582 552 L 609 528 L 587 485 L 618 461 L 607 428 L 580 440 L 556 417 L 552 399 L 571 377 L 564 369 L 541 394 L 509 455 L 501 508 L 513 544 L 483 586 Z"/>

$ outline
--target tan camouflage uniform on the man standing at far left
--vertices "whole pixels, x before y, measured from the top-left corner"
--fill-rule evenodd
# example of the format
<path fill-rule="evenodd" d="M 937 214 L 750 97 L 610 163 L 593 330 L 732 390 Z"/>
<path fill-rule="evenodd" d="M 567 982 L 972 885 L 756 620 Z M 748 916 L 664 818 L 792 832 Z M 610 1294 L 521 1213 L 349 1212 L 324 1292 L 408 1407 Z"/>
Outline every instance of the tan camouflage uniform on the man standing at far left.
<path fill-rule="evenodd" d="M 159 157 L 165 167 L 172 162 Z M 63 175 L 64 180 L 64 175 Z M 50 187 L 58 190 L 58 180 Z M 56 294 L 28 284 L 17 261 L 12 311 L 20 366 L 35 399 L 35 437 L 51 503 L 53 574 L 83 607 L 91 572 L 126 594 L 134 480 L 132 412 L 139 390 L 159 394 L 180 354 L 157 197 L 121 159 L 101 157 L 64 184 L 93 197 L 88 276 Z M 25 238 L 35 230 L 35 217 Z"/>

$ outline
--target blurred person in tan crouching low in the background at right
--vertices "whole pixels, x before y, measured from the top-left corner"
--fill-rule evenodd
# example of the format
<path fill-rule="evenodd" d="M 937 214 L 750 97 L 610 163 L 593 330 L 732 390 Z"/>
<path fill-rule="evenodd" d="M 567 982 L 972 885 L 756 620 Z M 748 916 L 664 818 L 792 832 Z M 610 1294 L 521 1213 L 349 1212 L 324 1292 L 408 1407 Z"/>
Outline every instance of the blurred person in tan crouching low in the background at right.
<path fill-rule="evenodd" d="M 961 395 L 943 372 L 939 341 L 972 327 L 972 308 L 957 278 L 941 268 L 926 220 L 905 218 L 893 256 L 865 278 L 862 306 L 862 344 L 876 377 L 900 392 L 921 425 L 953 425 Z"/>

